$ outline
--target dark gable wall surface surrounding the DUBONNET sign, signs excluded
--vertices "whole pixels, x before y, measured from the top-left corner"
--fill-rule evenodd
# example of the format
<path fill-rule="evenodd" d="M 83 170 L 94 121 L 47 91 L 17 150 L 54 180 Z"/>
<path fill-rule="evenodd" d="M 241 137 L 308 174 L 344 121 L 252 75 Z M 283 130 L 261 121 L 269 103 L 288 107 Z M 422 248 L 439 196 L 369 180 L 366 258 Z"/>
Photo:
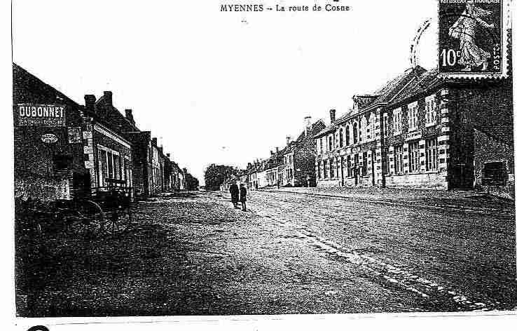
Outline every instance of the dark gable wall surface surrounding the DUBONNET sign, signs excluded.
<path fill-rule="evenodd" d="M 18 126 L 18 104 L 64 105 L 65 126 Z M 13 106 L 15 196 L 53 200 L 73 198 L 76 192 L 84 191 L 85 181 L 74 182 L 74 177 L 88 175 L 82 140 L 71 143 L 68 137 L 68 127 L 83 128 L 81 107 L 17 65 L 13 65 Z M 56 135 L 57 142 L 43 143 L 41 135 L 45 133 Z M 59 159 L 66 162 L 56 162 Z M 58 167 L 58 163 L 63 166 Z"/>

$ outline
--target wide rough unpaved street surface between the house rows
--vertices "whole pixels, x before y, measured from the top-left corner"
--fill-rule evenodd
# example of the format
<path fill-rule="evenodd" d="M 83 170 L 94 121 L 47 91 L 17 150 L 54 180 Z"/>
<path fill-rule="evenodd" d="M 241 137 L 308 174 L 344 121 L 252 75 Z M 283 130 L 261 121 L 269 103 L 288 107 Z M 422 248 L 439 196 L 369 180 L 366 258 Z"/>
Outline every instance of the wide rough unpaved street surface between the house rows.
<path fill-rule="evenodd" d="M 249 191 L 156 198 L 134 229 L 48 248 L 33 316 L 395 313 L 517 306 L 513 215 Z M 58 240 L 59 238 L 56 238 Z M 64 240 L 60 238 L 59 240 Z M 37 305 L 30 304 L 37 302 Z"/>

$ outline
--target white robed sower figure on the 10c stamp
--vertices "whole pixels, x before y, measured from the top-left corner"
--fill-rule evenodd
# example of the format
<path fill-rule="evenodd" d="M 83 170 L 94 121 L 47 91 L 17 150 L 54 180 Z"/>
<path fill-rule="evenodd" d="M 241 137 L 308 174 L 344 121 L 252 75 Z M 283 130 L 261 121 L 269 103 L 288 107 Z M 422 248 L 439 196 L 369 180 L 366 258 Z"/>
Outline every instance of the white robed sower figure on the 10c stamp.
<path fill-rule="evenodd" d="M 491 11 L 476 7 L 474 1 L 469 0 L 466 9 L 449 29 L 449 36 L 460 39 L 460 60 L 458 63 L 465 68 L 464 72 L 470 72 L 472 67 L 483 65 L 482 70 L 488 69 L 490 53 L 476 45 L 476 27 L 481 25 L 488 29 L 494 29 L 494 25 L 488 24 L 481 18 L 491 15 Z"/>

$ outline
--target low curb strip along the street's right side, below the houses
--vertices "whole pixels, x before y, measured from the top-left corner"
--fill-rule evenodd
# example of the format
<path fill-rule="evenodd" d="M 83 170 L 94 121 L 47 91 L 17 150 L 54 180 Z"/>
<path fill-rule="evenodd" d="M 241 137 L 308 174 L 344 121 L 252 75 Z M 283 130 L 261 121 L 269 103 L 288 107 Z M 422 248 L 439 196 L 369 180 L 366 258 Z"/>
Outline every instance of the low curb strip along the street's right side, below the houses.
<path fill-rule="evenodd" d="M 281 191 L 281 190 L 264 190 L 264 189 L 258 189 L 257 191 L 261 192 L 271 192 L 271 193 L 289 193 L 289 194 L 303 194 L 305 196 L 321 196 L 323 198 L 340 198 L 343 200 L 353 200 L 353 201 L 361 201 L 361 202 L 368 202 L 368 203 L 378 203 L 382 205 L 410 205 L 412 207 L 419 207 L 419 208 L 427 208 L 427 209 L 434 209 L 434 210 L 447 210 L 447 211 L 454 211 L 459 213 L 471 213 L 471 214 L 478 214 L 478 215 L 497 215 L 497 216 L 503 216 L 503 217 L 513 217 L 515 215 L 515 210 L 511 209 L 497 209 L 497 208 L 478 208 L 478 207 L 469 207 L 465 208 L 460 205 L 426 205 L 424 203 L 411 203 L 409 201 L 401 201 L 401 200 L 394 200 L 394 199 L 378 199 L 378 198 L 352 198 L 349 196 L 336 196 L 331 194 L 319 194 L 319 193 L 308 193 L 308 192 L 296 192 L 296 191 Z"/>

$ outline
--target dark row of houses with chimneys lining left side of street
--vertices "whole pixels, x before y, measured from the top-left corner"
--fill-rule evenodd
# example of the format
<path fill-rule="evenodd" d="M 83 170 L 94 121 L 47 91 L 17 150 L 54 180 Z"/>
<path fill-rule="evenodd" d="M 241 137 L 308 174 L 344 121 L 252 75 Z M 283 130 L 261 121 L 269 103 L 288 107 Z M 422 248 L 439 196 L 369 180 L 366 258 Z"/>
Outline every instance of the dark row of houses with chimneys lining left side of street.
<path fill-rule="evenodd" d="M 82 198 L 124 187 L 132 198 L 185 189 L 185 173 L 132 109 L 113 94 L 78 104 L 13 64 L 15 196 L 43 201 Z"/>

